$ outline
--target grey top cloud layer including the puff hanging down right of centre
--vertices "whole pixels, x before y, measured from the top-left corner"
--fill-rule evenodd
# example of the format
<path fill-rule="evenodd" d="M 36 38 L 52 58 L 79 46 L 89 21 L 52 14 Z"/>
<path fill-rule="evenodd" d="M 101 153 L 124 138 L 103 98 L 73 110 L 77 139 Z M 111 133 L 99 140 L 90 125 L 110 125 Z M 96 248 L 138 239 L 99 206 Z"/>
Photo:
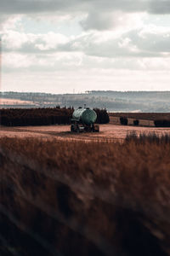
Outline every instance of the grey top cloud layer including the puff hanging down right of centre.
<path fill-rule="evenodd" d="M 132 13 L 170 14 L 169 0 L 1 0 L 2 15 L 34 15 L 37 19 L 52 14 L 53 19 L 86 15 L 81 24 L 85 30 L 105 30 L 126 22 Z M 54 15 L 56 18 L 54 18 Z"/>

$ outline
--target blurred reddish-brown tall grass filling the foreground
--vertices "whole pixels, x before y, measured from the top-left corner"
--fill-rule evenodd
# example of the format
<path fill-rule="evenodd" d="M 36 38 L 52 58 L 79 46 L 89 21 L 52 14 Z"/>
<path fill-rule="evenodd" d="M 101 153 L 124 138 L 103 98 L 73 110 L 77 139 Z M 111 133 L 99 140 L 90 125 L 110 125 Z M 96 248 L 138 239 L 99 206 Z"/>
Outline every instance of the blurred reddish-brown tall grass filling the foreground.
<path fill-rule="evenodd" d="M 170 255 L 169 140 L 0 145 L 1 255 Z"/>

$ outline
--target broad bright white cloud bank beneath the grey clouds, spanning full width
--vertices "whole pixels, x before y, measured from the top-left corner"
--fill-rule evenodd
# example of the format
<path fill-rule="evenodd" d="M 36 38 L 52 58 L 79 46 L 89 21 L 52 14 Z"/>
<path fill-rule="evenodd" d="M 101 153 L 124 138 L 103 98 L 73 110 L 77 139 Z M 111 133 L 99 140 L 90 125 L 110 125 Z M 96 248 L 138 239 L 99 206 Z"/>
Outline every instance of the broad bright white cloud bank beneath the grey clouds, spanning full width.
<path fill-rule="evenodd" d="M 121 17 L 120 14 L 118 17 Z M 145 25 L 142 20 L 144 17 L 125 15 L 126 26 L 106 31 L 82 32 L 77 36 L 65 36 L 64 33 L 52 31 L 42 34 L 20 32 L 15 25 L 15 29 L 3 32 L 3 51 L 23 54 L 81 52 L 109 58 L 169 56 L 170 26 Z"/>

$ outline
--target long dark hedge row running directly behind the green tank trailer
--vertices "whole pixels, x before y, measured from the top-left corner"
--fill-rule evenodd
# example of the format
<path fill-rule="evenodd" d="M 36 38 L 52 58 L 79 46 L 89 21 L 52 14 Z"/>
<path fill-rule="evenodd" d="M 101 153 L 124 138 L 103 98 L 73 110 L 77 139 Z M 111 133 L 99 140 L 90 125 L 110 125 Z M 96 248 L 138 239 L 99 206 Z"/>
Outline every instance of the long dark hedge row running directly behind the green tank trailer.
<path fill-rule="evenodd" d="M 95 108 L 96 123 L 109 122 L 109 115 L 105 109 Z M 8 108 L 0 110 L 0 125 L 69 125 L 74 108 Z"/>

